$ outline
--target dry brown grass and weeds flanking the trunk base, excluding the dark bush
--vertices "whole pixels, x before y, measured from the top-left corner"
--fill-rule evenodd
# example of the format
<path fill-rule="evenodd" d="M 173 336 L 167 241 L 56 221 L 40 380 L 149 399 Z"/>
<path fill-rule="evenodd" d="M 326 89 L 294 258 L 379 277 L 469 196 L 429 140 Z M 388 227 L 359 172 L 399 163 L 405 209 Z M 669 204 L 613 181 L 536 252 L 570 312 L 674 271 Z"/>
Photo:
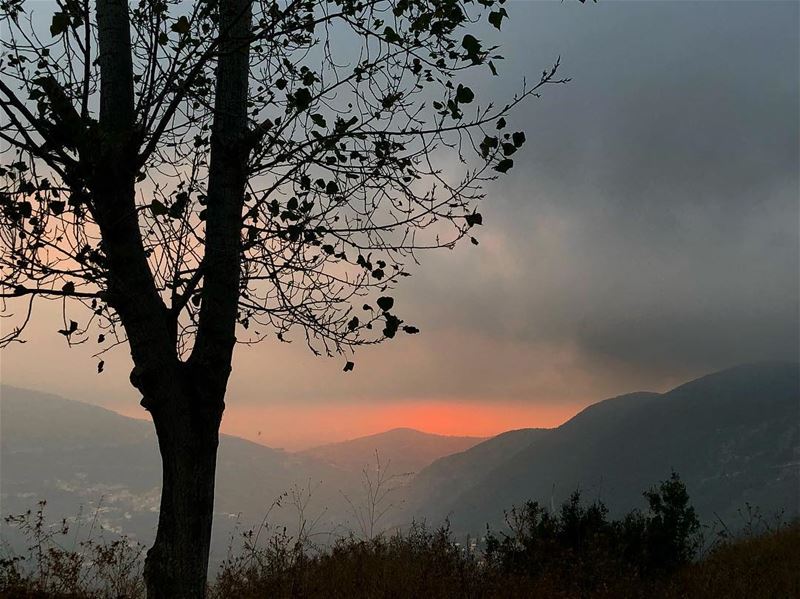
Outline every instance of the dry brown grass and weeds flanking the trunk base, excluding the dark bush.
<path fill-rule="evenodd" d="M 104 553 L 98 553 L 97 545 L 84 545 L 77 549 L 83 557 L 65 549 L 58 555 L 52 545 L 42 549 L 44 564 L 8 556 L 0 561 L 0 597 L 143 596 L 140 571 L 119 544 Z M 26 559 L 33 560 L 37 552 Z M 105 562 L 104 573 L 89 574 L 86 560 L 98 557 Z M 348 538 L 320 550 L 284 535 L 232 557 L 209 594 L 212 599 L 800 598 L 800 523 L 722 542 L 701 561 L 670 573 L 620 568 L 616 555 L 590 559 L 565 554 L 558 567 L 510 573 L 487 563 L 480 552 L 456 547 L 446 529 L 417 527 L 371 541 Z M 75 567 L 76 560 L 83 567 Z M 119 560 L 121 569 L 115 565 Z"/>

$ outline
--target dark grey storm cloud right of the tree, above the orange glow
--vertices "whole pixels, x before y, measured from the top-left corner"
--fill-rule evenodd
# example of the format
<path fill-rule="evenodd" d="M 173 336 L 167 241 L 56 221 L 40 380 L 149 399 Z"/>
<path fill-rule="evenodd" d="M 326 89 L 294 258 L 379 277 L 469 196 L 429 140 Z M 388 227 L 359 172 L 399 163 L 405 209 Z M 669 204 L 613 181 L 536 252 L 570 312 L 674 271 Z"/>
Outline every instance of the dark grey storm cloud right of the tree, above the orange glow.
<path fill-rule="evenodd" d="M 572 343 L 586 368 L 797 359 L 798 5 L 510 11 L 503 86 L 558 54 L 573 82 L 514 119 L 529 146 L 484 247 L 420 271 L 427 319 Z"/>

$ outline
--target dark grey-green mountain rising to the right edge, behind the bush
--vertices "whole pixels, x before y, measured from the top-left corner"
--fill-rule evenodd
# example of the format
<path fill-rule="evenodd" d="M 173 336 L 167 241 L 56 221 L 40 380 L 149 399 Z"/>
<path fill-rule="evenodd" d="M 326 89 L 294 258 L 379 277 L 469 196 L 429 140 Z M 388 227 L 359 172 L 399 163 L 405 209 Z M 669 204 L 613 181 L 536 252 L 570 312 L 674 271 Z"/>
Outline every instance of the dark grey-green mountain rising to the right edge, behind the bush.
<path fill-rule="evenodd" d="M 747 504 L 800 513 L 800 366 L 751 364 L 594 404 L 551 430 L 513 433 L 443 458 L 408 488 L 406 518 L 480 534 L 527 499 L 549 505 L 582 489 L 613 513 L 674 469 L 701 518 L 741 525 Z"/>

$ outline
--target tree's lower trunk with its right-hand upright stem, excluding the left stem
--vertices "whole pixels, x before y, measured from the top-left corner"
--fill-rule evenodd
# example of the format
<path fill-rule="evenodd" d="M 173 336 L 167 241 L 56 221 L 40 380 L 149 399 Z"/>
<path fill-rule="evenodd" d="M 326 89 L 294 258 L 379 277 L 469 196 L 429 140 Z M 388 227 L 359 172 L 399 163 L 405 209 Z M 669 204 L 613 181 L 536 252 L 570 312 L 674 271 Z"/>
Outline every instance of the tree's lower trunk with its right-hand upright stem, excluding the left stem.
<path fill-rule="evenodd" d="M 154 398 L 163 487 L 148 599 L 205 595 L 219 424 L 239 301 L 242 205 L 247 180 L 251 0 L 220 2 L 214 126 L 206 210 L 203 294 L 195 346 L 178 388 Z M 163 381 L 168 384 L 169 381 Z M 159 386 L 158 389 L 163 389 Z"/>

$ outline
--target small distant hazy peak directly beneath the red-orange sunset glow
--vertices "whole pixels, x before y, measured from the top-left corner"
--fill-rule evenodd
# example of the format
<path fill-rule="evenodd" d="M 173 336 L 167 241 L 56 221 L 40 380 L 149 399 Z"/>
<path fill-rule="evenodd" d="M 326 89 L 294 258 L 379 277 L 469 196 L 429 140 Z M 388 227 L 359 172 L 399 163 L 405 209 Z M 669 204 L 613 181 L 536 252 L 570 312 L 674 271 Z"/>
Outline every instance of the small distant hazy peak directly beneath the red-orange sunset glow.
<path fill-rule="evenodd" d="M 416 473 L 444 456 L 477 445 L 482 437 L 435 435 L 413 428 L 395 428 L 376 435 L 330 443 L 301 452 L 337 468 L 360 473 L 376 459 L 392 474 Z M 376 458 L 377 456 L 377 458 Z"/>

